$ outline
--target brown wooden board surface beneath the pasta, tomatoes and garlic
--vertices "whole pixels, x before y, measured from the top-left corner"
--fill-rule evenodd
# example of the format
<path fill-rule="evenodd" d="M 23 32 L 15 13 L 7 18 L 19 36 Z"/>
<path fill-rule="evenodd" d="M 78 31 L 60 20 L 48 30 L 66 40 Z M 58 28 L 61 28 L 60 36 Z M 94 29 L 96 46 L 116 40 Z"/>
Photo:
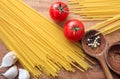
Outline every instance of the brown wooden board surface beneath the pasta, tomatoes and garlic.
<path fill-rule="evenodd" d="M 36 9 L 38 12 L 40 12 L 44 16 L 50 18 L 49 7 L 56 0 L 23 0 L 23 1 L 26 4 L 30 5 L 32 8 Z M 63 1 L 65 3 L 67 3 L 67 0 L 59 0 L 59 1 Z M 73 19 L 73 18 L 80 19 L 81 17 L 79 15 L 74 15 L 74 14 L 70 13 L 68 19 Z M 61 27 L 63 27 L 63 25 L 66 21 L 59 23 L 59 25 Z M 83 21 L 83 23 L 86 26 L 86 28 L 88 28 L 90 26 L 95 25 L 96 23 L 99 23 L 99 21 Z M 106 39 L 109 42 L 109 45 L 111 45 L 114 42 L 120 41 L 120 30 L 107 35 Z M 2 57 L 7 52 L 8 52 L 8 49 L 0 41 L 0 62 L 2 60 Z M 71 73 L 71 72 L 67 72 L 62 69 L 58 73 L 59 76 L 56 78 L 51 78 L 51 77 L 47 77 L 46 75 L 43 75 L 42 77 L 40 77 L 38 79 L 105 79 L 104 73 L 103 73 L 102 68 L 101 68 L 100 64 L 98 63 L 98 61 L 92 57 L 90 57 L 90 58 L 93 59 L 96 62 L 96 64 L 93 65 L 93 68 L 87 70 L 86 72 L 81 72 L 76 69 L 75 73 Z M 17 63 L 17 65 L 19 67 L 21 67 L 19 62 Z M 0 73 L 4 72 L 6 69 L 0 69 Z M 115 74 L 114 72 L 112 72 L 112 74 L 113 74 L 114 79 L 120 79 L 119 75 Z M 5 78 L 0 76 L 0 79 L 5 79 Z M 33 79 L 33 78 L 31 78 L 31 79 Z"/>

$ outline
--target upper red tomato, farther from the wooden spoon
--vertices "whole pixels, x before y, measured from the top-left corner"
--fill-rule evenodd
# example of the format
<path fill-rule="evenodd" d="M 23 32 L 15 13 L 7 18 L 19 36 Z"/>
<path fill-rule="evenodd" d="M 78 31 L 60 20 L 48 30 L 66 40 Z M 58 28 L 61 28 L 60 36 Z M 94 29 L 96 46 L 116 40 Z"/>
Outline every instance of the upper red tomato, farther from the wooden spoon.
<path fill-rule="evenodd" d="M 69 8 L 63 2 L 55 2 L 49 9 L 51 18 L 56 22 L 64 21 L 68 17 Z"/>

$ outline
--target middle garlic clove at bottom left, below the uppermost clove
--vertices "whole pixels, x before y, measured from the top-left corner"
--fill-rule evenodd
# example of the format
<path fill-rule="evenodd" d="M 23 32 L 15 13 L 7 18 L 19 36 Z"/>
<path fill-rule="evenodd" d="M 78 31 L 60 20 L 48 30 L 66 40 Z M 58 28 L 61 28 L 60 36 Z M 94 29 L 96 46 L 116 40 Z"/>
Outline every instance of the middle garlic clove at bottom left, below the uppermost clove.
<path fill-rule="evenodd" d="M 18 75 L 17 66 L 12 66 L 5 73 L 2 73 L 1 75 L 7 79 L 15 79 L 15 77 Z"/>

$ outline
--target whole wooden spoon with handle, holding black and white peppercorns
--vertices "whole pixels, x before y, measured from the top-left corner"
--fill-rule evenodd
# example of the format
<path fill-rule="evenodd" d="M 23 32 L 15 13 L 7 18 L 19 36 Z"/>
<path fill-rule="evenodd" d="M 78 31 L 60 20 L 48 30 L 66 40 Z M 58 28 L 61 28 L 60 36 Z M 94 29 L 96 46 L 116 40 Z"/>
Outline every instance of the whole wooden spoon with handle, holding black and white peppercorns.
<path fill-rule="evenodd" d="M 96 36 L 96 34 L 98 36 L 100 36 L 101 44 L 99 47 L 92 49 L 90 46 L 87 45 L 87 43 L 88 43 L 87 40 L 89 38 L 91 38 L 92 36 Z M 90 30 L 84 35 L 84 37 L 82 39 L 82 46 L 83 46 L 84 51 L 87 54 L 89 54 L 92 57 L 95 57 L 100 62 L 101 66 L 104 70 L 104 73 L 106 75 L 106 79 L 113 79 L 111 72 L 108 69 L 107 64 L 105 62 L 104 54 L 106 53 L 106 50 L 107 50 L 107 42 L 106 42 L 104 35 L 97 30 Z"/>

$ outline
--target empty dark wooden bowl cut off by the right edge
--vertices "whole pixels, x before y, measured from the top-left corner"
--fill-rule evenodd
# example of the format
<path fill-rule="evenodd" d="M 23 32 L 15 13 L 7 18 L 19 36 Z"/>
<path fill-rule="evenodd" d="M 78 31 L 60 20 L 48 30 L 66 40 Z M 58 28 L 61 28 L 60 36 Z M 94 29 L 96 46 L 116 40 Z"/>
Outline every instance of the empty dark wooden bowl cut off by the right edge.
<path fill-rule="evenodd" d="M 109 68 L 120 75 L 120 42 L 109 47 L 106 53 L 106 61 Z"/>

